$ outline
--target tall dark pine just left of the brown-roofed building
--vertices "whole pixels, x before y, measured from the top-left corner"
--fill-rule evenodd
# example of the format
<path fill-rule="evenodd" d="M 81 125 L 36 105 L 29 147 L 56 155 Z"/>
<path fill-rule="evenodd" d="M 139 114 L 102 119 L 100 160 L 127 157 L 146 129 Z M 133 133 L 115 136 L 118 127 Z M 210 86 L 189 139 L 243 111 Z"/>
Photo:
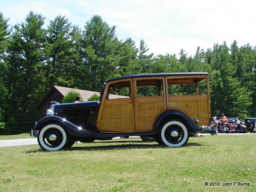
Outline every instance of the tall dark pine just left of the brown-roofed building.
<path fill-rule="evenodd" d="M 41 98 L 42 64 L 44 62 L 44 17 L 29 12 L 25 22 L 14 26 L 7 52 L 9 122 L 13 131 L 32 126 L 36 118 L 35 104 Z M 19 122 L 19 126 L 17 126 Z M 30 126 L 28 126 L 28 124 Z M 19 129 L 18 129 L 19 128 Z"/>

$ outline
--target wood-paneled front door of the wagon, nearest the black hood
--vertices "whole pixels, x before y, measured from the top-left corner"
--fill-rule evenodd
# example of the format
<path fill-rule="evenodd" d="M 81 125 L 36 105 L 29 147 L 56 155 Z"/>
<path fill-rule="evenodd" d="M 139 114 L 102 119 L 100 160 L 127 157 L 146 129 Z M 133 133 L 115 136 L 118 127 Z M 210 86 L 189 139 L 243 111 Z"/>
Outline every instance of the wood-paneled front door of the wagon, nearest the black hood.
<path fill-rule="evenodd" d="M 106 84 L 97 118 L 97 129 L 105 133 L 135 131 L 132 79 Z"/>

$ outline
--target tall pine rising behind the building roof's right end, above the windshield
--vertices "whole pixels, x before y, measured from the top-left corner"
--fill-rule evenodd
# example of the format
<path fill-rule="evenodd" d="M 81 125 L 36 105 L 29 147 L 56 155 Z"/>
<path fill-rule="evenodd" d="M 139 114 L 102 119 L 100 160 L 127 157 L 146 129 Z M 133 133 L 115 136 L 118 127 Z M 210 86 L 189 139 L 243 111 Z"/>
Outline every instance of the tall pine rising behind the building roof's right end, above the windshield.
<path fill-rule="evenodd" d="M 105 80 L 112 77 L 115 71 L 114 58 L 119 44 L 115 28 L 109 27 L 99 15 L 94 15 L 84 26 L 81 41 L 83 67 L 89 70 L 86 84 L 92 91 L 99 91 Z"/>

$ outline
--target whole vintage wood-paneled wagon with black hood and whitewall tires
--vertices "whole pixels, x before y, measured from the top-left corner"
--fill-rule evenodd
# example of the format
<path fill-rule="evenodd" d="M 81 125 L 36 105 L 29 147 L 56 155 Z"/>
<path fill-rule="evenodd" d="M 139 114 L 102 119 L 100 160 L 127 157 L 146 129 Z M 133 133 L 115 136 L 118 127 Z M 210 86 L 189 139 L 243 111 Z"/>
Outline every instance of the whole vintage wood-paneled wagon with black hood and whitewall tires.
<path fill-rule="evenodd" d="M 111 98 L 111 95 L 120 95 Z M 106 81 L 99 101 L 53 104 L 31 131 L 47 151 L 75 141 L 148 136 L 180 147 L 211 120 L 208 73 L 152 73 Z"/>

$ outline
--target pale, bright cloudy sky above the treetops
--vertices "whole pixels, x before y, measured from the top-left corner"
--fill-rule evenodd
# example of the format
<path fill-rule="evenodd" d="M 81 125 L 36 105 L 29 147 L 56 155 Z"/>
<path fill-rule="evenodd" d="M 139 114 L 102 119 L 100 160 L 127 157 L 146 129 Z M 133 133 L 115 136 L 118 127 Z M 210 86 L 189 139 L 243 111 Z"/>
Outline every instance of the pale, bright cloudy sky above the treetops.
<path fill-rule="evenodd" d="M 9 24 L 23 22 L 29 11 L 41 13 L 45 23 L 58 14 L 81 28 L 100 15 L 109 26 L 116 26 L 120 40 L 132 38 L 138 46 L 147 43 L 148 54 L 177 54 L 183 48 L 194 55 L 200 46 L 234 40 L 238 45 L 256 46 L 254 0 L 0 0 L 0 11 Z"/>

